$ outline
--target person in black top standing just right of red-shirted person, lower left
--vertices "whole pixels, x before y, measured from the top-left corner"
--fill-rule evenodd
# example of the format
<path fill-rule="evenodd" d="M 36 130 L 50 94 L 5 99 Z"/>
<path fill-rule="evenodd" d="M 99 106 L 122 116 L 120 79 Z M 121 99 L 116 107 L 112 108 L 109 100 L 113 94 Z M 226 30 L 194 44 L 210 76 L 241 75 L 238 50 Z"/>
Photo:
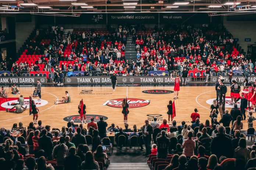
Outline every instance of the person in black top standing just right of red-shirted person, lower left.
<path fill-rule="evenodd" d="M 47 136 L 46 129 L 42 129 L 41 134 L 42 136 L 38 140 L 39 147 L 46 152 L 47 158 L 51 160 L 51 153 L 53 151 L 53 142 L 51 141 L 51 138 Z"/>

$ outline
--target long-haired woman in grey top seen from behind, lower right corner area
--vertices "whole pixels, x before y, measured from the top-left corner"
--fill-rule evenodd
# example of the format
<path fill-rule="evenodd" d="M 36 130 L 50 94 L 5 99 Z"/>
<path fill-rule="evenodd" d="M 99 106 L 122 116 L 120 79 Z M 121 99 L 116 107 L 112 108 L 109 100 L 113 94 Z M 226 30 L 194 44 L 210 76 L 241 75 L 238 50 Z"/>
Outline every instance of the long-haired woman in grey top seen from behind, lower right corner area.
<path fill-rule="evenodd" d="M 246 162 L 250 159 L 250 150 L 246 148 L 245 138 L 240 138 L 238 147 L 234 151 L 234 158 L 241 158 Z"/>

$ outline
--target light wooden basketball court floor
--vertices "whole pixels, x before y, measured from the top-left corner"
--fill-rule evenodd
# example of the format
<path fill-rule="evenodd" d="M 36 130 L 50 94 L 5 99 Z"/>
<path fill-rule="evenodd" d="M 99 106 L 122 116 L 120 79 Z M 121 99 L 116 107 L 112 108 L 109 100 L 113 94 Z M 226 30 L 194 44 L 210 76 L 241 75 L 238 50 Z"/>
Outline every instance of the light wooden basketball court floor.
<path fill-rule="evenodd" d="M 132 100 L 132 106 L 135 108 L 129 108 L 128 124 L 132 128 L 134 124 L 141 127 L 145 119 L 152 120 L 154 116 L 158 118 L 159 122 L 163 119 L 167 119 L 167 104 L 169 100 L 173 100 L 174 93 L 170 94 L 147 94 L 142 93 L 144 90 L 173 90 L 174 87 L 168 86 L 118 86 L 113 91 L 110 86 L 104 87 L 42 87 L 42 101 L 36 103 L 40 110 L 39 120 L 42 120 L 43 126 L 50 125 L 51 127 L 60 128 L 67 125 L 66 120 L 75 119 L 75 115 L 78 115 L 78 104 L 81 99 L 86 104 L 86 115 L 88 120 L 90 116 L 94 116 L 96 119 L 100 115 L 107 117 L 106 122 L 111 125 L 115 123 L 119 127 L 124 127 L 122 109 L 120 103 L 113 101 L 113 99 L 122 99 L 126 97 L 128 92 L 128 99 Z M 9 93 L 10 88 L 6 88 Z M 33 87 L 19 87 L 21 94 L 24 97 L 29 97 L 33 91 Z M 54 105 L 56 97 L 61 99 L 65 96 L 65 91 L 71 96 L 71 103 Z M 227 96 L 230 92 L 228 90 Z M 28 126 L 29 122 L 32 122 L 32 115 L 29 116 L 29 110 L 27 109 L 21 114 L 15 114 L 6 112 L 5 107 L 9 107 L 8 103 L 17 100 L 18 95 L 8 95 L 8 99 L 0 99 L 1 111 L 0 111 L 0 127 L 6 129 L 11 128 L 13 123 L 23 122 L 25 126 Z M 35 101 L 38 97 L 34 97 Z M 179 91 L 179 99 L 175 100 L 176 117 L 174 120 L 181 124 L 181 121 L 186 121 L 191 124 L 190 115 L 194 111 L 194 108 L 198 108 L 200 114 L 200 122 L 205 123 L 206 119 L 209 119 L 210 104 L 213 99 L 216 99 L 216 91 L 214 86 L 183 86 Z M 25 99 L 28 101 L 28 99 Z M 208 103 L 207 103 L 208 102 Z M 25 102 L 27 103 L 27 102 Z M 104 104 L 104 105 L 103 105 Z M 138 107 L 139 106 L 139 107 Z M 141 107 L 143 106 L 143 107 Z M 226 105 L 227 106 L 227 105 Z M 228 108 L 228 110 L 230 110 Z M 256 114 L 253 113 L 256 117 Z M 220 115 L 218 116 L 220 120 Z M 248 128 L 247 121 L 243 121 L 243 129 Z M 256 127 L 256 123 L 253 125 Z M 86 126 L 87 127 L 87 126 Z"/>

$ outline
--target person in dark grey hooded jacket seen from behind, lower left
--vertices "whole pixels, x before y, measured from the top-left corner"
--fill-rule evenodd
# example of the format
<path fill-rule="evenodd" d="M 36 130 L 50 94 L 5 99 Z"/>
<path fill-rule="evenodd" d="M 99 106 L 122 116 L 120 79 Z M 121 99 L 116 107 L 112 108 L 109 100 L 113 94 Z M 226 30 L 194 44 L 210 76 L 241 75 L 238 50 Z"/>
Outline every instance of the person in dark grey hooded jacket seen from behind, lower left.
<path fill-rule="evenodd" d="M 65 157 L 68 155 L 68 147 L 65 145 L 65 137 L 60 137 L 60 144 L 53 148 L 53 159 L 56 159 L 58 166 L 64 165 Z"/>

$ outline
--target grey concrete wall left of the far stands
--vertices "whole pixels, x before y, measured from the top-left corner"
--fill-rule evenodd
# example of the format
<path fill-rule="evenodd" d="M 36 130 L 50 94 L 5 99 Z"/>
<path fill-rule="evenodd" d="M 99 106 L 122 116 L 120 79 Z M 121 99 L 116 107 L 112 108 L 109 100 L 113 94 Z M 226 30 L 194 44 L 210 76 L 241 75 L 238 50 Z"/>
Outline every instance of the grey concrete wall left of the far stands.
<path fill-rule="evenodd" d="M 16 32 L 16 51 L 21 48 L 22 44 L 29 37 L 31 32 L 35 29 L 35 16 L 32 15 L 31 22 L 16 22 L 15 32 Z"/>

